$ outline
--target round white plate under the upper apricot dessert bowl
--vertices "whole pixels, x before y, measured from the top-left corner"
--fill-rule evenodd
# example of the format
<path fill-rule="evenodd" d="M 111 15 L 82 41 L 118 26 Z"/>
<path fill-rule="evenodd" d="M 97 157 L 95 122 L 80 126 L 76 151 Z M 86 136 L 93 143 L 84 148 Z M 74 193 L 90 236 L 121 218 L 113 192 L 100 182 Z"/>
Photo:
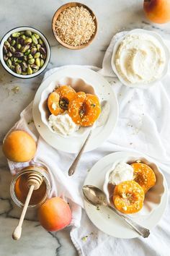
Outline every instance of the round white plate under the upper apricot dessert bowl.
<path fill-rule="evenodd" d="M 62 150 L 68 153 L 79 152 L 81 146 L 86 139 L 86 134 L 81 137 L 61 137 L 60 135 L 54 134 L 48 129 L 41 120 L 41 115 L 39 111 L 39 103 L 42 91 L 50 85 L 50 82 L 55 82 L 55 80 L 61 80 L 62 77 L 79 77 L 81 80 L 85 80 L 86 83 L 92 85 L 95 93 L 99 96 L 100 101 L 108 101 L 110 110 L 109 116 L 102 127 L 94 129 L 91 135 L 91 139 L 86 145 L 85 151 L 94 150 L 94 148 L 99 147 L 99 145 L 107 140 L 107 137 L 111 134 L 118 118 L 118 103 L 114 91 L 112 90 L 109 82 L 102 77 L 101 74 L 92 71 L 91 69 L 86 69 L 80 66 L 63 67 L 58 69 L 56 72 L 51 74 L 47 79 L 45 79 L 35 94 L 35 99 L 33 102 L 32 114 L 35 122 L 37 131 L 40 133 L 42 138 L 48 142 L 53 148 L 57 150 Z"/>

